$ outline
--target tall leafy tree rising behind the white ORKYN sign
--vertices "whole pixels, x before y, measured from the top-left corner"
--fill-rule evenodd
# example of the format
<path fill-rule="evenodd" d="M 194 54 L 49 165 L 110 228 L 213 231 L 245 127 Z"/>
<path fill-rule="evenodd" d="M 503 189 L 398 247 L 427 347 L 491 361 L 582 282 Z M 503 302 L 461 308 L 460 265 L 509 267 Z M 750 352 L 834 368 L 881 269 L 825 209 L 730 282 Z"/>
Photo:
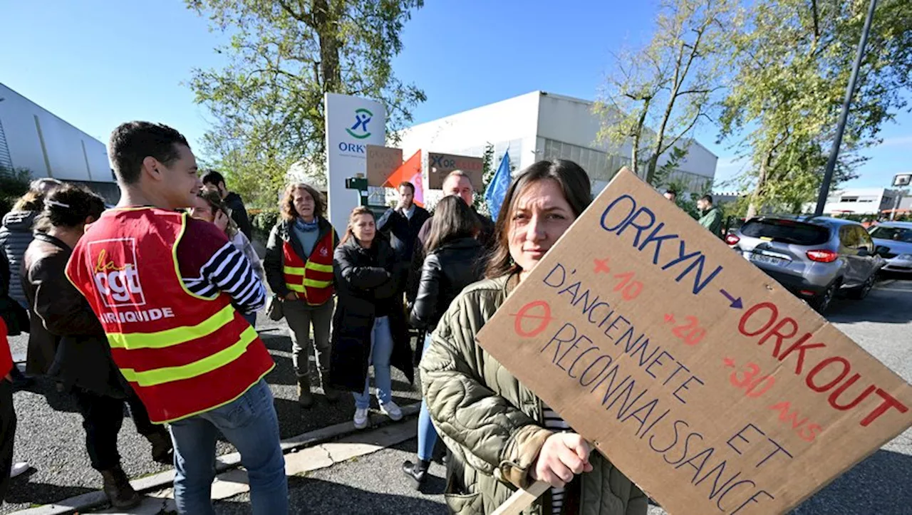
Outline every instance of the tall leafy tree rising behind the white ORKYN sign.
<path fill-rule="evenodd" d="M 394 135 L 426 99 L 390 64 L 402 50 L 402 27 L 423 0 L 186 2 L 214 30 L 231 34 L 216 49 L 229 57 L 226 67 L 192 72 L 195 101 L 214 118 L 205 150 L 270 205 L 293 164 L 325 173 L 325 93 L 382 101 Z"/>

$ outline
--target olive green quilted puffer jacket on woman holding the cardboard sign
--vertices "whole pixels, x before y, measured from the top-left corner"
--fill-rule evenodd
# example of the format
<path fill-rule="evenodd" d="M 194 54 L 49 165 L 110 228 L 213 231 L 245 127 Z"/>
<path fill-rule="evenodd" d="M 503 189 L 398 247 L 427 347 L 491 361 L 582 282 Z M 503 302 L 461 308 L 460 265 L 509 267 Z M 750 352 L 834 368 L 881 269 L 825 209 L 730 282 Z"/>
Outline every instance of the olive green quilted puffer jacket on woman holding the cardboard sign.
<path fill-rule="evenodd" d="M 445 497 L 460 515 L 491 513 L 517 487 L 529 486 L 529 466 L 552 434 L 541 425 L 541 400 L 475 344 L 516 283 L 516 276 L 504 276 L 466 287 L 421 359 L 430 417 L 452 452 Z M 590 462 L 593 471 L 571 484 L 580 492 L 580 515 L 647 512 L 646 496 L 611 462 L 597 452 Z M 550 515 L 550 507 L 545 493 L 523 513 Z"/>

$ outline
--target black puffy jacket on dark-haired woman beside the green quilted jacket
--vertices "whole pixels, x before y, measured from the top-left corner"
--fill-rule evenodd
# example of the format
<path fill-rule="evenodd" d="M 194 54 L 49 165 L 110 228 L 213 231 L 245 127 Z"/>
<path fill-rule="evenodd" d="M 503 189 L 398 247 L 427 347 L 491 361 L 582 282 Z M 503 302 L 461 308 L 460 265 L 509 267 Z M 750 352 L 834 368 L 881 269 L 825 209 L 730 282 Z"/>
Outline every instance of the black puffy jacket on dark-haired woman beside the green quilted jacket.
<path fill-rule="evenodd" d="M 462 288 L 482 279 L 484 248 L 475 238 L 446 242 L 424 258 L 409 323 L 433 331 Z"/>

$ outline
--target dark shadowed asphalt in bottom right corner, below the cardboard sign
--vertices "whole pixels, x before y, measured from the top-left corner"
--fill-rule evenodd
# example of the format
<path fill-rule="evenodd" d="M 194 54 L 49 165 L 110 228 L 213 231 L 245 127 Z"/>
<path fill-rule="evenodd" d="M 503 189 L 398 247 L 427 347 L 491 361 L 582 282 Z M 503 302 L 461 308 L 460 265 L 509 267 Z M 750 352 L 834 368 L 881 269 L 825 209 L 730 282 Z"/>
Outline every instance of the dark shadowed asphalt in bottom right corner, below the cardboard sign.
<path fill-rule="evenodd" d="M 876 453 L 805 500 L 793 515 L 907 515 L 912 506 L 912 456 Z"/>

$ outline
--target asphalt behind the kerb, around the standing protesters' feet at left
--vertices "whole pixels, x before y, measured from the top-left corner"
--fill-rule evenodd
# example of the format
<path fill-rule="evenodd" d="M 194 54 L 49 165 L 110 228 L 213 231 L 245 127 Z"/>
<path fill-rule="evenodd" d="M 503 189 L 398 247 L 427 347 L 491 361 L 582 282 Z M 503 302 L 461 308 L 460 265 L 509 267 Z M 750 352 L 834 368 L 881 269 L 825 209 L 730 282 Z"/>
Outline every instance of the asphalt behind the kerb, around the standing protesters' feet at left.
<path fill-rule="evenodd" d="M 257 329 L 275 359 L 275 369 L 266 376 L 266 381 L 275 395 L 282 438 L 345 422 L 352 417 L 355 405 L 351 396 L 343 396 L 336 405 L 329 405 L 323 396 L 317 395 L 314 407 L 307 410 L 299 407 L 291 363 L 291 338 L 285 321 L 275 323 L 261 314 Z M 27 335 L 11 338 L 14 356 L 25 355 L 26 343 Z M 312 381 L 316 384 L 316 376 Z M 419 387 L 409 386 L 405 376 L 394 368 L 393 400 L 406 406 L 419 399 Z M 33 469 L 13 479 L 6 503 L 0 506 L 0 514 L 100 489 L 101 477 L 89 465 L 82 417 L 69 397 L 57 394 L 51 382 L 39 380 L 30 390 L 17 392 L 14 402 L 18 417 L 15 460 L 27 461 Z M 374 400 L 374 407 L 376 405 Z M 151 461 L 150 445 L 136 432 L 130 418 L 124 420 L 118 448 L 123 469 L 132 479 L 169 469 Z M 219 443 L 219 454 L 233 450 L 227 442 Z"/>

